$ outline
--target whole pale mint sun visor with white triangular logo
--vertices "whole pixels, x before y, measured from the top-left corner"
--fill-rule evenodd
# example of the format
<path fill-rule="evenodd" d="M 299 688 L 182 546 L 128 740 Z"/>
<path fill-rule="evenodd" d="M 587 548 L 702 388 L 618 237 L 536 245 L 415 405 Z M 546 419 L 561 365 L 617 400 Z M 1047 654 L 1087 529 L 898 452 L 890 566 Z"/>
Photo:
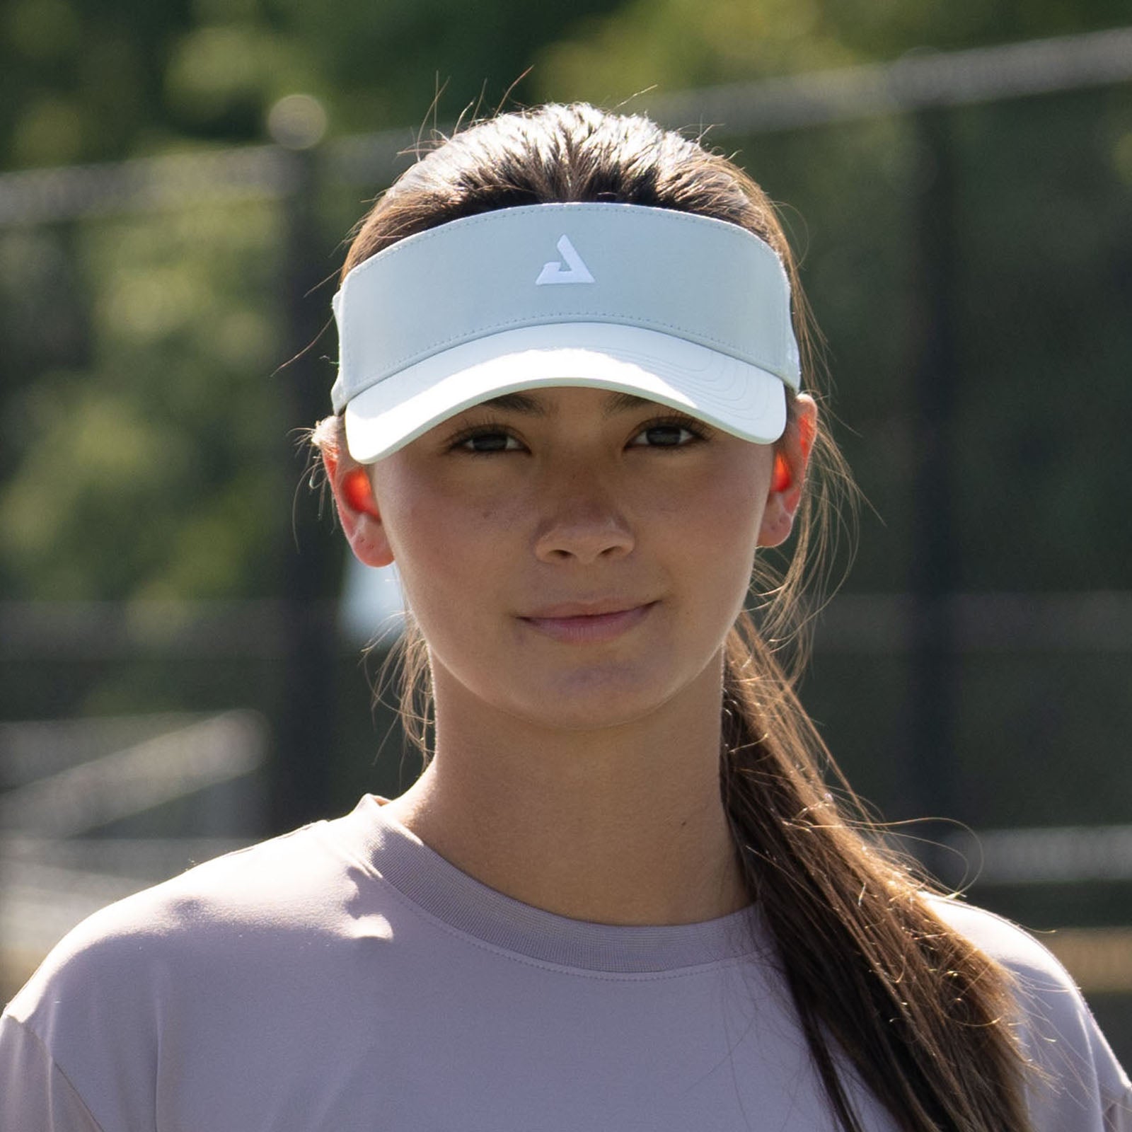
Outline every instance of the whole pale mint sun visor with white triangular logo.
<path fill-rule="evenodd" d="M 334 297 L 351 456 L 372 463 L 471 405 L 592 386 L 756 444 L 799 386 L 778 256 L 724 221 L 624 204 L 501 208 L 429 229 Z"/>

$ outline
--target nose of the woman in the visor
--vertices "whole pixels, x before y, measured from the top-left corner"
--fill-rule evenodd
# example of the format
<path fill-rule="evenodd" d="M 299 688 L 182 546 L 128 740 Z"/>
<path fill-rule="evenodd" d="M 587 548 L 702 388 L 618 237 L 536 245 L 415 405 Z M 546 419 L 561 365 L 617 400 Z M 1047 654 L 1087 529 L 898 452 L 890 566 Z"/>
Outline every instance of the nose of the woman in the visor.
<path fill-rule="evenodd" d="M 569 477 L 548 505 L 534 538 L 540 561 L 580 564 L 632 552 L 633 530 L 607 486 L 580 472 Z"/>

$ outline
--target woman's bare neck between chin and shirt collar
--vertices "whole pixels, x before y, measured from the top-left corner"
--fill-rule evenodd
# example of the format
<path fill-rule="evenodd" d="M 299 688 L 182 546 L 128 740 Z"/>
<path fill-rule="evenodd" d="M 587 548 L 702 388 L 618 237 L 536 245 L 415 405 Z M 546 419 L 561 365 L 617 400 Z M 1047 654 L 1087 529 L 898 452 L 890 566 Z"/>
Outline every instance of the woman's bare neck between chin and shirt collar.
<path fill-rule="evenodd" d="M 392 816 L 457 868 L 560 916 L 685 924 L 749 902 L 719 791 L 719 672 L 649 715 L 552 730 L 434 672 L 436 754 Z"/>

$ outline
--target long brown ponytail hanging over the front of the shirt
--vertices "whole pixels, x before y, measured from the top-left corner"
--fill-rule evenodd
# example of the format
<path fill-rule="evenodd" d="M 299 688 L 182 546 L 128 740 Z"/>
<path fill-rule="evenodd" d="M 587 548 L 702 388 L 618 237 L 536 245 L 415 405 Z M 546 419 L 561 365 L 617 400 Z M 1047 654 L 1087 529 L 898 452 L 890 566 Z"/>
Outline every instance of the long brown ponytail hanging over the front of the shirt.
<path fill-rule="evenodd" d="M 848 803 L 826 789 L 814 752 Z M 720 784 L 748 891 L 846 1132 L 861 1125 L 834 1050 L 907 1132 L 1028 1129 L 1021 1055 L 1001 1021 L 1007 972 L 944 924 L 925 884 L 883 849 L 746 614 L 727 645 Z"/>

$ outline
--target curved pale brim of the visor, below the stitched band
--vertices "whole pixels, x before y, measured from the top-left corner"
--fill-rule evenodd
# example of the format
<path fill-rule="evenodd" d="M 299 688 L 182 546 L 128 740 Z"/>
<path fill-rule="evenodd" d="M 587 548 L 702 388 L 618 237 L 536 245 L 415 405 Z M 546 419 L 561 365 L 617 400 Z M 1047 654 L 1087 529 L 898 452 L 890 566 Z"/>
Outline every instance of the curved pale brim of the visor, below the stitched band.
<path fill-rule="evenodd" d="M 671 405 L 772 444 L 786 428 L 773 374 L 683 338 L 609 323 L 505 331 L 400 370 L 346 405 L 350 455 L 374 463 L 472 405 L 540 386 L 589 386 Z"/>

